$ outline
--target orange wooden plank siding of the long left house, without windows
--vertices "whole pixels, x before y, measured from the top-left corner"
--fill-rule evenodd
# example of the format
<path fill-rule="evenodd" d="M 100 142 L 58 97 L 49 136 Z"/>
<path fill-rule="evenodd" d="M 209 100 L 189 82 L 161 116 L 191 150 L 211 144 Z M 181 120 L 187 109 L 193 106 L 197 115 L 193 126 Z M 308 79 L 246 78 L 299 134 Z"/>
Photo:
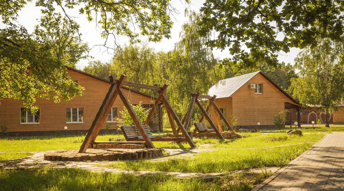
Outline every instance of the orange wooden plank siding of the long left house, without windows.
<path fill-rule="evenodd" d="M 23 104 L 13 99 L 3 99 L 0 104 L 0 124 L 6 121 L 8 132 L 22 131 L 63 131 L 64 126 L 68 130 L 88 130 L 91 126 L 98 110 L 103 102 L 110 84 L 98 79 L 68 70 L 68 74 L 73 80 L 78 80 L 80 86 L 84 87 L 82 96 L 77 96 L 70 101 L 61 101 L 54 103 L 54 100 L 38 98 L 35 105 L 40 108 L 40 124 L 20 124 L 20 108 Z M 129 90 L 123 89 L 128 97 Z M 150 104 L 151 98 L 131 91 L 132 104 Z M 131 99 L 130 96 L 128 99 Z M 154 101 L 152 99 L 152 101 Z M 119 111 L 123 110 L 123 103 L 116 99 L 113 107 L 118 108 L 118 117 L 121 117 Z M 84 123 L 66 123 L 66 108 L 84 108 Z M 103 128 L 105 128 L 104 123 Z M 111 129 L 117 128 L 117 123 L 111 123 Z"/>

